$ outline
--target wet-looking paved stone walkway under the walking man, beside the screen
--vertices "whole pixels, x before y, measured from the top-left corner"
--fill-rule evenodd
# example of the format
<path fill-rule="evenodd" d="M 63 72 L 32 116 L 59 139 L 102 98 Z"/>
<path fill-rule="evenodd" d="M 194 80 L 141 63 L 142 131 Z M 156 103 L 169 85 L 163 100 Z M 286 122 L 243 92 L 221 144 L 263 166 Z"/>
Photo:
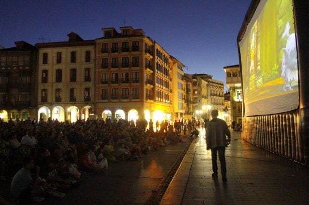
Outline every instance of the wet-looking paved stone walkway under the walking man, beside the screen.
<path fill-rule="evenodd" d="M 161 205 L 309 204 L 309 168 L 242 140 L 239 132 L 231 132 L 232 142 L 225 152 L 227 183 L 220 174 L 212 179 L 203 131 L 192 142 Z M 219 164 L 218 160 L 218 173 Z"/>

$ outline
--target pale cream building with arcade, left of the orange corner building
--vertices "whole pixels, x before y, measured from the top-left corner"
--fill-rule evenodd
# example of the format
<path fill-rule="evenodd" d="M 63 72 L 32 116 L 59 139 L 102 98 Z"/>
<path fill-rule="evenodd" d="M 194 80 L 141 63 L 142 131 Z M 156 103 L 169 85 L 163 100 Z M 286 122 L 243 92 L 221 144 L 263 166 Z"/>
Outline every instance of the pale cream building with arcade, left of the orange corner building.
<path fill-rule="evenodd" d="M 75 122 L 95 113 L 95 46 L 71 32 L 68 41 L 37 43 L 38 118 Z"/>

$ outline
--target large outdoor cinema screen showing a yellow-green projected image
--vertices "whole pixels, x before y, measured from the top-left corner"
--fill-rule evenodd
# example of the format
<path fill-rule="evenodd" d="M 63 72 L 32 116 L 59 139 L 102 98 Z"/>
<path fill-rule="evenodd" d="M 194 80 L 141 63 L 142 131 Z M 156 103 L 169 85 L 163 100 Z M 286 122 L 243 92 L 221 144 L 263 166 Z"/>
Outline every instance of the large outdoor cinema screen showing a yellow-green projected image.
<path fill-rule="evenodd" d="M 239 41 L 245 116 L 299 106 L 292 0 L 260 0 Z"/>

